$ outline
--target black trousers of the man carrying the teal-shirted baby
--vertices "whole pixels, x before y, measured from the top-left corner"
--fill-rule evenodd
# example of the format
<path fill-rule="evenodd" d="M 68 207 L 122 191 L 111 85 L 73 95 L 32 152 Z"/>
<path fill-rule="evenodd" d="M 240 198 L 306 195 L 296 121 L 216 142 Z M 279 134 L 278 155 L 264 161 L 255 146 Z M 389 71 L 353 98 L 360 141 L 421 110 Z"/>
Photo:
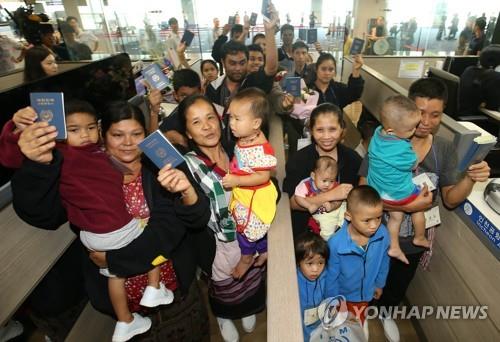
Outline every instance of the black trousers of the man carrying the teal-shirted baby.
<path fill-rule="evenodd" d="M 389 274 L 387 275 L 382 296 L 379 300 L 373 300 L 370 304 L 376 305 L 379 308 L 386 307 L 386 312 L 390 312 L 390 306 L 399 305 L 405 297 L 406 290 L 408 289 L 408 286 L 417 271 L 418 263 L 422 254 L 424 254 L 424 252 L 407 254 L 406 258 L 409 261 L 409 265 L 402 263 L 398 259 L 391 258 Z"/>

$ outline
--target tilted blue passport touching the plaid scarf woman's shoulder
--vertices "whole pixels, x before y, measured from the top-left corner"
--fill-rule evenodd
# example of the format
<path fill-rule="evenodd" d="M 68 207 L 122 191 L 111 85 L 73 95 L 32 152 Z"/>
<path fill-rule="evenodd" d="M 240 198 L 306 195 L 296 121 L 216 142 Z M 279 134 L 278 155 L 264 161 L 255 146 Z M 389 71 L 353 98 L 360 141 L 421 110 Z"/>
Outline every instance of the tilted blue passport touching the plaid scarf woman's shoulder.
<path fill-rule="evenodd" d="M 182 154 L 177 151 L 160 130 L 148 135 L 139 143 L 139 148 L 159 169 L 167 164 L 177 167 L 184 162 Z"/>

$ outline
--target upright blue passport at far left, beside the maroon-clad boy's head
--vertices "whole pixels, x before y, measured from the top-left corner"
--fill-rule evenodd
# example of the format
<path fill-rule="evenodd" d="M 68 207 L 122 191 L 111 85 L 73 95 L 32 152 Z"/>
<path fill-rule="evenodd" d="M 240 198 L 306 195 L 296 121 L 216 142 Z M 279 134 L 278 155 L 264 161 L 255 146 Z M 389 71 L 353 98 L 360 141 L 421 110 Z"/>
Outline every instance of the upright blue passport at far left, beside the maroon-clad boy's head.
<path fill-rule="evenodd" d="M 67 138 L 63 93 L 30 93 L 30 105 L 38 115 L 36 121 L 46 121 L 57 128 L 57 140 Z"/>

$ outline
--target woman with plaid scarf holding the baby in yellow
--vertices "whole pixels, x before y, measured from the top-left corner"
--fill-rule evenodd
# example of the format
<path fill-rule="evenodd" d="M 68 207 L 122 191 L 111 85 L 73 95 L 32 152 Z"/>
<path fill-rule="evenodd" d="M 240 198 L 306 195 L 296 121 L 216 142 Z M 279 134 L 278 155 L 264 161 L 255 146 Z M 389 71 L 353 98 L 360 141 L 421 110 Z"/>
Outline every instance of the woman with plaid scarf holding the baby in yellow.
<path fill-rule="evenodd" d="M 233 320 L 241 319 L 243 330 L 250 333 L 255 329 L 255 314 L 265 308 L 265 266 L 252 266 L 239 280 L 232 275 L 241 251 L 228 209 L 231 191 L 224 189 L 222 178 L 229 172 L 233 148 L 223 144 L 217 111 L 206 97 L 197 95 L 181 102 L 179 114 L 191 150 L 184 157 L 210 198 L 212 215 L 206 234 L 200 235 L 204 239 L 200 245 L 215 247 L 212 258 L 205 258 L 205 267 L 202 266 L 209 277 L 208 301 L 224 341 L 238 341 Z"/>

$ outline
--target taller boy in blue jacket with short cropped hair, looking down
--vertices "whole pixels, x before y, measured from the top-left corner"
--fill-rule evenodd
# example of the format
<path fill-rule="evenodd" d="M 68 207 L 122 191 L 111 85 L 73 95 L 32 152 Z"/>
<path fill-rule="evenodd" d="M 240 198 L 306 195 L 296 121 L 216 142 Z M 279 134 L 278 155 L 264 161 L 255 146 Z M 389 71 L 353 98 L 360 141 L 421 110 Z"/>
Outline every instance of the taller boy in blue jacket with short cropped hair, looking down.
<path fill-rule="evenodd" d="M 346 220 L 330 240 L 327 263 L 327 297 L 342 295 L 347 308 L 364 324 L 364 309 L 382 295 L 389 272 L 390 238 L 381 223 L 382 199 L 368 185 L 347 196 Z"/>

